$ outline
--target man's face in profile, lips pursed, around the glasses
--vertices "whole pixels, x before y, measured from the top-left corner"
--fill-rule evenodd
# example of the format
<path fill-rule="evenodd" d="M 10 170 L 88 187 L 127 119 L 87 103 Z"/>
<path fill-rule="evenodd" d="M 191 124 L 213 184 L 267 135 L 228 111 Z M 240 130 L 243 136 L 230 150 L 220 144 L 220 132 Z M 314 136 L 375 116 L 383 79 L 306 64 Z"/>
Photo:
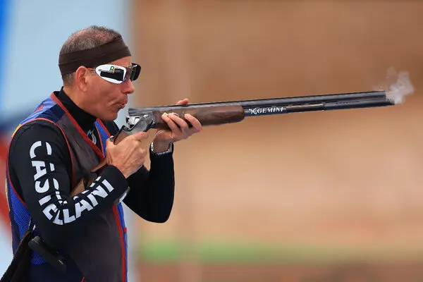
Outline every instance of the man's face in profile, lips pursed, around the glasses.
<path fill-rule="evenodd" d="M 110 64 L 130 66 L 131 57 L 124 57 Z M 114 121 L 118 117 L 118 111 L 128 103 L 128 94 L 134 91 L 135 87 L 131 80 L 116 84 L 94 73 L 87 82 L 87 92 L 84 97 L 87 111 L 103 121 Z"/>

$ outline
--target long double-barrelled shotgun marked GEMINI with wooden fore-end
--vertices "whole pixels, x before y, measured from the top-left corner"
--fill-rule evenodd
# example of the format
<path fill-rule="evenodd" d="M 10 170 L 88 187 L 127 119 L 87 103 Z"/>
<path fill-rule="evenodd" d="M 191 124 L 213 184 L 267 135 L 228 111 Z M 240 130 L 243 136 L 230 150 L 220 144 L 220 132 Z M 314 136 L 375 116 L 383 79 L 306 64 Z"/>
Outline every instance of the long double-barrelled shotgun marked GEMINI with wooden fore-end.
<path fill-rule="evenodd" d="M 271 99 L 252 99 L 229 102 L 209 102 L 187 105 L 152 106 L 129 108 L 126 124 L 116 137 L 118 144 L 124 137 L 151 128 L 168 128 L 161 119 L 164 113 L 177 114 L 185 122 L 185 114 L 191 114 L 203 126 L 223 125 L 243 121 L 250 116 L 291 114 L 306 111 L 331 111 L 340 109 L 359 109 L 378 106 L 393 106 L 396 101 L 387 97 L 386 91 L 352 92 L 341 94 L 321 94 L 303 97 L 284 97 Z"/>

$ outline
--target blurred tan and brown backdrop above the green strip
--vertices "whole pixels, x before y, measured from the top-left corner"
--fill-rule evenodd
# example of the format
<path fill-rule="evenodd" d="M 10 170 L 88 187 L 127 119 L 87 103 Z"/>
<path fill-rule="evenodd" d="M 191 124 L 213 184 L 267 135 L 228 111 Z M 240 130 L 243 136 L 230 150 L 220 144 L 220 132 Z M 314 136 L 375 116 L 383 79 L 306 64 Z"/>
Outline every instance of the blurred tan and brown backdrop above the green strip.
<path fill-rule="evenodd" d="M 423 3 L 183 3 L 134 1 L 137 106 L 373 90 L 390 66 L 416 92 L 204 128 L 176 146 L 171 219 L 140 236 L 423 243 Z"/>

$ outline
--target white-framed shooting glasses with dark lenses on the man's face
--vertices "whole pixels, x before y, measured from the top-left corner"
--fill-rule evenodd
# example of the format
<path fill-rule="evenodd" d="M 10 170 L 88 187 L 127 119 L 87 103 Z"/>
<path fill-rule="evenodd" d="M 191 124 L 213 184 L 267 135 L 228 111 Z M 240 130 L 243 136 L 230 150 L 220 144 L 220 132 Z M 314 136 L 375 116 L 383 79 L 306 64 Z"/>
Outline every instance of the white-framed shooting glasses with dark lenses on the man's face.
<path fill-rule="evenodd" d="M 100 65 L 95 68 L 95 72 L 100 78 L 106 81 L 120 84 L 126 80 L 137 80 L 140 75 L 141 66 L 132 63 L 131 66 Z"/>

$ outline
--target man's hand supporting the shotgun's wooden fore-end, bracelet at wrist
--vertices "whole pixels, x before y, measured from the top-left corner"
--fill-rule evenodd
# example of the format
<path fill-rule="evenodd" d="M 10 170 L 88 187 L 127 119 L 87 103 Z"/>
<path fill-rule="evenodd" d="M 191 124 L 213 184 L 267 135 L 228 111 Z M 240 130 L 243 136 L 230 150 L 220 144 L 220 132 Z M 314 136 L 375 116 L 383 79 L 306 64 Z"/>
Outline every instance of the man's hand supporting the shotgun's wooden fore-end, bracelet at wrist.
<path fill-rule="evenodd" d="M 188 104 L 188 99 L 180 100 L 177 105 Z M 200 121 L 190 114 L 185 114 L 184 118 L 192 125 L 190 128 L 182 118 L 173 113 L 165 113 L 161 119 L 167 123 L 169 129 L 157 130 L 153 140 L 154 152 L 164 152 L 171 145 L 171 142 L 185 140 L 195 133 L 202 130 Z"/>

